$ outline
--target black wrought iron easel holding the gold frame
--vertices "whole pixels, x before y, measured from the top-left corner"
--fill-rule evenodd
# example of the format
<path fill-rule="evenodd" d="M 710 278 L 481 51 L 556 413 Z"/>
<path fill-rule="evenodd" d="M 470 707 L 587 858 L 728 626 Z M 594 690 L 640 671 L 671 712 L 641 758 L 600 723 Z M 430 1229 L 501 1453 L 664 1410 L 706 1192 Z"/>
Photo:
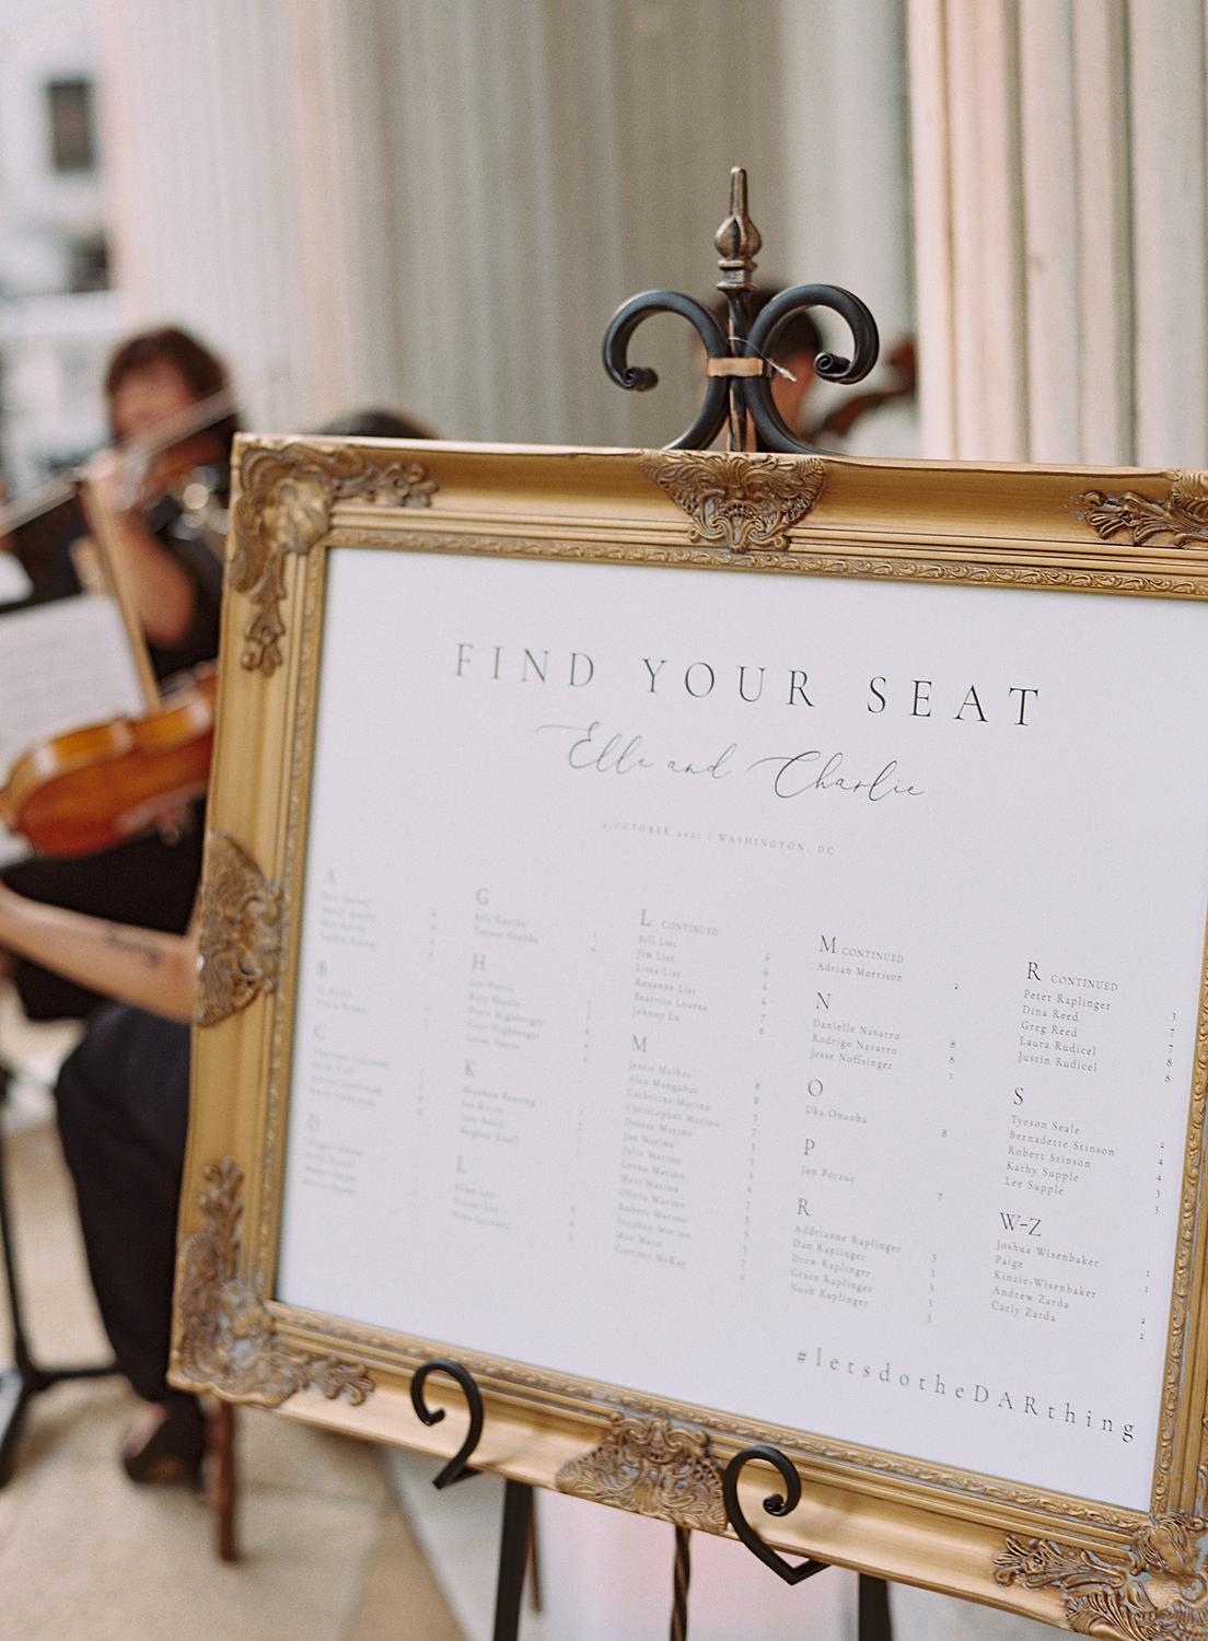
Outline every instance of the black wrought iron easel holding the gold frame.
<path fill-rule="evenodd" d="M 771 395 L 771 363 L 776 336 L 788 320 L 803 309 L 824 307 L 844 318 L 852 331 L 852 358 L 821 353 L 814 373 L 827 382 L 858 382 L 876 363 L 880 340 L 876 322 L 865 304 L 837 286 L 793 286 L 781 290 L 752 320 L 755 253 L 762 240 L 747 215 L 747 172 L 730 171 L 730 215 L 717 230 L 716 246 L 722 277 L 717 289 L 725 297 L 729 323 L 725 333 L 712 313 L 678 290 L 643 290 L 630 297 L 614 313 L 604 335 L 604 369 L 619 387 L 645 392 L 658 384 L 658 376 L 629 363 L 629 343 L 638 325 L 652 313 L 680 313 L 696 330 L 706 351 L 706 392 L 693 425 L 666 445 L 666 450 L 706 450 L 727 428 L 730 450 L 763 450 L 785 455 L 816 455 L 785 423 Z M 437 1475 L 433 1487 L 451 1487 L 476 1472 L 469 1459 L 483 1434 L 483 1393 L 473 1375 L 460 1362 L 435 1359 L 425 1362 L 412 1380 L 410 1400 L 425 1424 L 438 1424 L 443 1408 L 430 1408 L 423 1387 L 432 1374 L 446 1374 L 460 1387 L 469 1408 L 469 1429 L 458 1452 Z M 801 1584 L 826 1572 L 829 1562 L 806 1559 L 791 1566 L 765 1544 L 747 1521 L 739 1498 L 742 1470 L 753 1462 L 771 1465 L 785 1483 L 785 1493 L 763 1500 L 770 1516 L 788 1516 L 801 1502 L 801 1477 L 778 1447 L 744 1447 L 730 1459 L 722 1477 L 725 1518 L 747 1549 L 786 1584 Z M 520 1603 L 532 1547 L 533 1488 L 527 1482 L 507 1480 L 504 1487 L 504 1520 L 499 1543 L 499 1577 L 496 1584 L 496 1616 L 492 1641 L 519 1641 Z M 673 1603 L 670 1641 L 688 1641 L 688 1588 L 691 1582 L 691 1533 L 675 1529 Z M 893 1641 L 890 1595 L 883 1579 L 860 1574 L 858 1641 Z"/>

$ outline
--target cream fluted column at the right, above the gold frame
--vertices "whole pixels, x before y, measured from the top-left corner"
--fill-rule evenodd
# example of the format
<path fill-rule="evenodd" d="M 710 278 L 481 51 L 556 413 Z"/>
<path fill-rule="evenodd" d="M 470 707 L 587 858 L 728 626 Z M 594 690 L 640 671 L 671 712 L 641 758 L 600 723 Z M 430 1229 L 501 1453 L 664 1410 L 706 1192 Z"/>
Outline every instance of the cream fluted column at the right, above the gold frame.
<path fill-rule="evenodd" d="M 1201 464 L 1200 0 L 911 0 L 927 455 Z"/>

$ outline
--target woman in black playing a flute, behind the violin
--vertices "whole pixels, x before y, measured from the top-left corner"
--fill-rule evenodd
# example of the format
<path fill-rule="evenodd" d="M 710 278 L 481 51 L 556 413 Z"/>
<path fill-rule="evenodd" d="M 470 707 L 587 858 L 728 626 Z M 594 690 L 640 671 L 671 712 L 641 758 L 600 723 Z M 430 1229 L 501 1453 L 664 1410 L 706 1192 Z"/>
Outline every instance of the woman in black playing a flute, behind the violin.
<path fill-rule="evenodd" d="M 121 553 L 162 679 L 218 651 L 223 515 L 238 425 L 226 368 L 184 330 L 144 331 L 113 354 L 105 399 L 120 450 L 94 458 L 89 479 L 107 502 L 112 550 Z M 197 427 L 207 405 L 218 414 Z M 166 443 L 176 427 L 184 432 Z M 200 862 L 202 827 L 194 812 L 171 842 L 151 834 L 79 860 L 34 857 L 7 868 L 3 881 L 36 901 L 179 934 L 189 922 Z M 95 991 L 31 962 L 13 962 L 11 973 L 30 1019 L 84 1019 L 100 1001 Z"/>

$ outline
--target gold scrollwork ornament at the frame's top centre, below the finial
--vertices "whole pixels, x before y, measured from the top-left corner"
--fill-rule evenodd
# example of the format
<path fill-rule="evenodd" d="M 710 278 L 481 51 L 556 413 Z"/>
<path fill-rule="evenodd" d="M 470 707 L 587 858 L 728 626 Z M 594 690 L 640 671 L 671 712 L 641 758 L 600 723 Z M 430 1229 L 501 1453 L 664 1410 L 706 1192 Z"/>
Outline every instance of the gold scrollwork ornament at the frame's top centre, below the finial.
<path fill-rule="evenodd" d="M 642 471 L 693 520 L 693 542 L 732 553 L 783 550 L 826 486 L 819 456 L 660 450 L 642 458 Z"/>

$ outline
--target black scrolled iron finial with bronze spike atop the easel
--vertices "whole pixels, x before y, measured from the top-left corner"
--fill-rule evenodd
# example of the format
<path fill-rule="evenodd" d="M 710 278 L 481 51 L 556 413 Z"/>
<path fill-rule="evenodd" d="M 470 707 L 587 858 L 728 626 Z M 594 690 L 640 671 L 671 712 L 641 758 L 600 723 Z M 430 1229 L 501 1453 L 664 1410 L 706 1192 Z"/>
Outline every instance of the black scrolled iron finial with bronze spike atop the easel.
<path fill-rule="evenodd" d="M 722 331 L 709 309 L 678 290 L 643 290 L 622 304 L 604 333 L 604 369 L 619 387 L 648 392 L 658 386 L 655 371 L 629 363 L 629 343 L 638 325 L 652 313 L 678 313 L 701 338 L 706 353 L 706 387 L 701 410 L 680 438 L 666 450 L 706 450 L 730 425 L 730 448 L 740 450 L 753 435 L 757 448 L 785 455 L 814 456 L 781 417 L 771 397 L 771 351 L 776 338 L 794 313 L 824 307 L 837 313 L 852 331 L 852 358 L 819 353 L 814 373 L 827 382 L 858 382 L 876 364 L 880 338 L 876 322 L 865 304 L 839 286 L 793 286 L 750 320 L 752 276 L 755 254 L 762 248 L 760 231 L 747 212 L 747 172 L 730 171 L 730 215 L 714 240 L 719 253 L 717 289 L 725 297 L 729 327 Z"/>

